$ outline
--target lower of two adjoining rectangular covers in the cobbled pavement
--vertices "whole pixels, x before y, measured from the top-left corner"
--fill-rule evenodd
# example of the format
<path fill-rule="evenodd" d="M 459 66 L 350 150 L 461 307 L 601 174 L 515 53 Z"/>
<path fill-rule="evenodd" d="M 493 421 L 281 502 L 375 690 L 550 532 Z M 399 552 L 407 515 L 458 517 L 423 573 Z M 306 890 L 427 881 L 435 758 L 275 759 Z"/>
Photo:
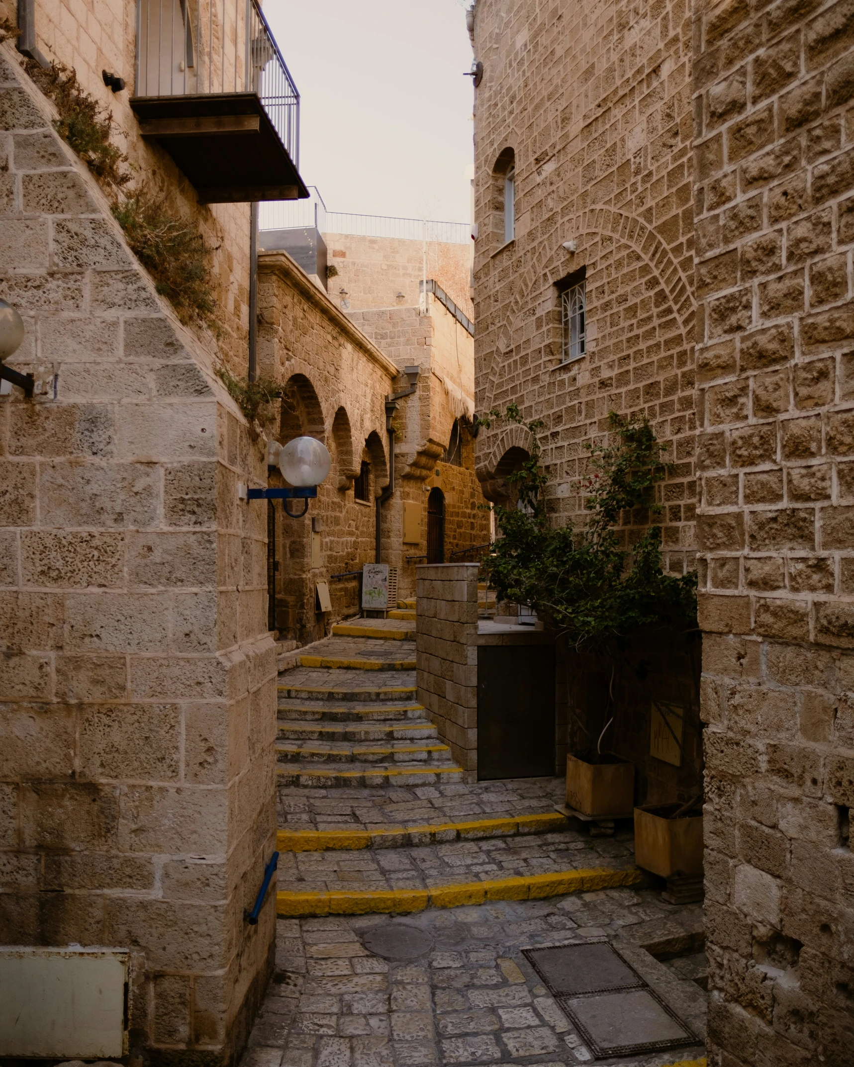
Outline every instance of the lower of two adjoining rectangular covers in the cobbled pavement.
<path fill-rule="evenodd" d="M 658 1052 L 697 1040 L 651 989 L 562 997 L 559 1004 L 597 1057 Z"/>

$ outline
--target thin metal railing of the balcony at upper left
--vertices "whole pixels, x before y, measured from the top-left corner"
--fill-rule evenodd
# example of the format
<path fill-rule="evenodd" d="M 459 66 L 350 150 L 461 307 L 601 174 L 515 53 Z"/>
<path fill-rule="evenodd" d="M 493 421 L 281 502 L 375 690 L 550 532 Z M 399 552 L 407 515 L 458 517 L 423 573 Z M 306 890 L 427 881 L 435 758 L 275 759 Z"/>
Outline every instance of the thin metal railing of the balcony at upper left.
<path fill-rule="evenodd" d="M 256 0 L 138 0 L 137 97 L 254 93 L 299 169 L 300 95 Z"/>

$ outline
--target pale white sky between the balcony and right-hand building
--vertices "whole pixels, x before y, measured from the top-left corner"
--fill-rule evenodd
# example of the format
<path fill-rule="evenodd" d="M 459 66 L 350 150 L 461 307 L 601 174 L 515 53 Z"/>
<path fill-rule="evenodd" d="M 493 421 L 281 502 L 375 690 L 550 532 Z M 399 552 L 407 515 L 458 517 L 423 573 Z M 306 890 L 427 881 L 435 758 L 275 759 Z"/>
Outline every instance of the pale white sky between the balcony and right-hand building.
<path fill-rule="evenodd" d="M 300 173 L 330 211 L 468 222 L 464 0 L 265 0 L 300 92 Z"/>

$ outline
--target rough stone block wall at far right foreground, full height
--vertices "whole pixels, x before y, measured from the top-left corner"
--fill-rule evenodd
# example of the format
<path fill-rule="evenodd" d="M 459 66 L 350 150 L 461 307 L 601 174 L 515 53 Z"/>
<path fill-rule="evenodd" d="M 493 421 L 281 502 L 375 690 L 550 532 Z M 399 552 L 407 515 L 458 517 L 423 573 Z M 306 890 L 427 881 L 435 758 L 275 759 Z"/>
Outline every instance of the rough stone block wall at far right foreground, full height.
<path fill-rule="evenodd" d="M 694 11 L 714 1064 L 851 1060 L 854 36 Z"/>

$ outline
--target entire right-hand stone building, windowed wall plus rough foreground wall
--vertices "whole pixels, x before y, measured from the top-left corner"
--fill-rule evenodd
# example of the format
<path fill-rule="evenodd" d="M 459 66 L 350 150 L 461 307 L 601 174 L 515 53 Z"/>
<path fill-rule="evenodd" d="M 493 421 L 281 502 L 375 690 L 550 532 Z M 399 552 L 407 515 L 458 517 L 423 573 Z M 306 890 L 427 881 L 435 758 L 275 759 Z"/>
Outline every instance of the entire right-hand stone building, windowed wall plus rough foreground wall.
<path fill-rule="evenodd" d="M 673 462 L 665 567 L 698 572 L 710 1063 L 842 1067 L 849 9 L 477 0 L 470 27 L 478 411 L 544 419 L 555 522 L 581 513 L 608 411 L 645 414 Z M 491 499 L 529 448 L 520 427 L 481 431 Z M 596 692 L 580 666 L 576 711 Z M 684 796 L 640 740 L 637 799 Z"/>

